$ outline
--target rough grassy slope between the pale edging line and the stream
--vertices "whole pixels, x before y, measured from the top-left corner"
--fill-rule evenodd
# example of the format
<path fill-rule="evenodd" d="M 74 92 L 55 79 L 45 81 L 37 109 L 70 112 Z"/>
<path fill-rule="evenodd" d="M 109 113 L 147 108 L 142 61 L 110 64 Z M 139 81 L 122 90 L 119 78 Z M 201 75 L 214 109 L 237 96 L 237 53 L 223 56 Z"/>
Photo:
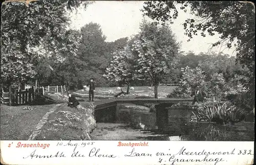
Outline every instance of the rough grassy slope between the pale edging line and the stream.
<path fill-rule="evenodd" d="M 81 102 L 78 110 L 62 104 L 49 115 L 47 123 L 35 137 L 37 140 L 90 140 L 90 133 L 96 128 L 93 106 Z"/>

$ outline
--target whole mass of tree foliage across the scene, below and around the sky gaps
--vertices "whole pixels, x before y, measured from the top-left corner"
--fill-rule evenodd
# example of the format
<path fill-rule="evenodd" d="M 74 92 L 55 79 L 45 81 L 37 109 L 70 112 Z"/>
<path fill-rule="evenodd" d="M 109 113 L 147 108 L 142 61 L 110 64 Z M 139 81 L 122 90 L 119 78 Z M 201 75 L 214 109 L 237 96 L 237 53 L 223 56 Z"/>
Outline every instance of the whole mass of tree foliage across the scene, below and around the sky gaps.
<path fill-rule="evenodd" d="M 96 86 L 180 83 L 169 97 L 191 97 L 196 85 L 208 97 L 226 98 L 249 109 L 254 106 L 254 8 L 240 2 L 145 2 L 143 12 L 158 22 L 190 10 L 201 20 L 187 19 L 185 34 L 192 38 L 220 34 L 213 46 L 232 43 L 237 57 L 223 53 L 179 52 L 167 25 L 143 21 L 140 32 L 106 42 L 100 25 L 90 22 L 69 30 L 69 13 L 85 1 L 8 2 L 2 6 L 1 85 L 21 83 L 75 85 L 90 78 Z M 180 10 L 178 9 L 180 7 Z M 174 11 L 174 13 L 172 13 Z M 230 12 L 232 11 L 232 12 Z M 105 74 L 105 76 L 103 76 Z"/>

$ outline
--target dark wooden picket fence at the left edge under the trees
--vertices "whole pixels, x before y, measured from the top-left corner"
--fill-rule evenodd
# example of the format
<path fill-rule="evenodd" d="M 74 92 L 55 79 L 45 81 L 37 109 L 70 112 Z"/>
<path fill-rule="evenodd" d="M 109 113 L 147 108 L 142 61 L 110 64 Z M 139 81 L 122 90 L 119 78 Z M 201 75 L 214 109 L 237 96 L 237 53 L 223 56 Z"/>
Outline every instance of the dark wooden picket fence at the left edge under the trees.
<path fill-rule="evenodd" d="M 44 95 L 43 87 L 39 87 L 34 89 L 34 87 L 22 90 L 12 90 L 11 93 L 4 92 L 2 90 L 1 95 L 1 103 L 9 104 L 11 106 L 15 105 L 23 105 L 23 104 L 31 104 L 35 99 L 40 98 Z"/>

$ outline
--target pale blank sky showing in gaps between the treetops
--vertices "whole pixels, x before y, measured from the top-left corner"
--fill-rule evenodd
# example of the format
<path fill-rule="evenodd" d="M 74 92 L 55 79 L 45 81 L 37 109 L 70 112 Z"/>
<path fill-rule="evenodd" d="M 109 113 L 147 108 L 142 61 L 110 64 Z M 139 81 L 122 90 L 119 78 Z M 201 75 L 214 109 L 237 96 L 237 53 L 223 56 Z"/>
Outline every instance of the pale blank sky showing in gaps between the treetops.
<path fill-rule="evenodd" d="M 122 37 L 130 37 L 137 34 L 139 24 L 143 19 L 140 9 L 143 8 L 143 1 L 96 1 L 89 5 L 86 10 L 78 9 L 71 14 L 71 29 L 80 29 L 89 22 L 98 23 L 101 26 L 103 34 L 106 36 L 106 41 L 115 41 Z M 144 17 L 151 20 L 148 17 Z M 181 51 L 193 51 L 195 54 L 200 52 L 223 52 L 232 56 L 236 55 L 234 48 L 225 49 L 225 46 L 209 49 L 210 43 L 219 40 L 219 36 L 202 37 L 193 36 L 189 42 L 188 37 L 184 34 L 182 23 L 187 18 L 194 18 L 189 14 L 189 11 L 179 12 L 178 18 L 170 25 L 172 31 L 176 34 L 177 41 L 181 41 Z"/>

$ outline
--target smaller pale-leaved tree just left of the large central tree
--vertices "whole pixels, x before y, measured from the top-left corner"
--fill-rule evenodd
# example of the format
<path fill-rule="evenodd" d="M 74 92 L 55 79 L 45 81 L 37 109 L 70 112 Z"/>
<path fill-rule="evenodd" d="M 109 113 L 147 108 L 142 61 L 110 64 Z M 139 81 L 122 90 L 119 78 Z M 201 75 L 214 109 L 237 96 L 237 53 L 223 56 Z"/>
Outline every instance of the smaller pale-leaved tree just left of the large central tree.
<path fill-rule="evenodd" d="M 134 80 L 135 59 L 131 49 L 126 46 L 123 50 L 113 53 L 113 60 L 106 68 L 104 77 L 111 81 L 124 82 L 127 85 L 126 93 L 129 94 L 130 83 Z"/>

